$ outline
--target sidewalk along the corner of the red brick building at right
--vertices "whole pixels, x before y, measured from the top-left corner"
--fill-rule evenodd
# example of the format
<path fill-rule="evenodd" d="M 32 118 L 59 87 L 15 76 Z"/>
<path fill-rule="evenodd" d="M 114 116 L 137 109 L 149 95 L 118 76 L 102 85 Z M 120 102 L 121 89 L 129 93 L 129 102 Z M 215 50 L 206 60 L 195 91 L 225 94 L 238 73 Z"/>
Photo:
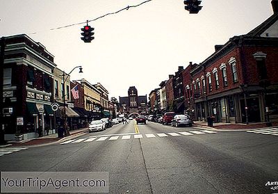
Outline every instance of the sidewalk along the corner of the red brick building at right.
<path fill-rule="evenodd" d="M 195 127 L 204 127 L 211 130 L 221 130 L 221 131 L 246 131 L 249 129 L 261 129 L 267 128 L 265 122 L 255 122 L 250 124 L 244 123 L 226 123 L 226 122 L 213 122 L 213 127 L 208 127 L 208 123 L 204 121 L 194 121 L 193 126 Z M 278 127 L 278 122 L 272 122 L 272 127 Z"/>

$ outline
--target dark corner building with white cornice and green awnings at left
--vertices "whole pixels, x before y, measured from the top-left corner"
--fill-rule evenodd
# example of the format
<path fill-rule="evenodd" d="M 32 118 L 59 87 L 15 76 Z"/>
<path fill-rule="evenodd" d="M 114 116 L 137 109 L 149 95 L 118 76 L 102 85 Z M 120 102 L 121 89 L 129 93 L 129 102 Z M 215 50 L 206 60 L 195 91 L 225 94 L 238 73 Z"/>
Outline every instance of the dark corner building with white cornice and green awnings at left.
<path fill-rule="evenodd" d="M 3 128 L 6 140 L 33 138 L 54 129 L 54 56 L 27 35 L 6 37 Z M 2 119 L 2 118 L 1 118 Z M 19 136 L 22 135 L 22 136 Z"/>

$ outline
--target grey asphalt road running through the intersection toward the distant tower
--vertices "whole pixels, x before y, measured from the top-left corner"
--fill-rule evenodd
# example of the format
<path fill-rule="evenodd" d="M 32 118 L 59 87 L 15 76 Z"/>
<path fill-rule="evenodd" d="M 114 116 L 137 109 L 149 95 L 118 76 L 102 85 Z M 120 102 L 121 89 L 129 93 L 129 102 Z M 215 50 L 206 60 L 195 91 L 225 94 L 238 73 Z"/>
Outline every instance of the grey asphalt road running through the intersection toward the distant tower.
<path fill-rule="evenodd" d="M 278 181 L 278 136 L 154 122 L 137 127 L 131 121 L 3 154 L 0 170 L 108 172 L 110 193 L 278 193 L 265 186 Z"/>

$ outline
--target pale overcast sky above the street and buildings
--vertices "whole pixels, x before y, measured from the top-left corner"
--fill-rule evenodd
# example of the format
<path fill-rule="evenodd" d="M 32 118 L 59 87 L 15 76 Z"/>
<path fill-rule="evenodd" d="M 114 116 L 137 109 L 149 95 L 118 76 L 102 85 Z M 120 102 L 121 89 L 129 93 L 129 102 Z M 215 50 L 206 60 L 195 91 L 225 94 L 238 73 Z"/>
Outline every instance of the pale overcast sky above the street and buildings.
<path fill-rule="evenodd" d="M 71 80 L 101 83 L 111 97 L 130 86 L 149 95 L 178 66 L 202 63 L 234 35 L 252 31 L 273 14 L 270 0 L 203 0 L 189 14 L 182 0 L 152 0 L 90 22 L 95 40 L 81 40 L 84 24 L 145 0 L 0 0 L 0 37 L 25 33 L 55 56 Z M 56 30 L 50 30 L 56 29 Z"/>

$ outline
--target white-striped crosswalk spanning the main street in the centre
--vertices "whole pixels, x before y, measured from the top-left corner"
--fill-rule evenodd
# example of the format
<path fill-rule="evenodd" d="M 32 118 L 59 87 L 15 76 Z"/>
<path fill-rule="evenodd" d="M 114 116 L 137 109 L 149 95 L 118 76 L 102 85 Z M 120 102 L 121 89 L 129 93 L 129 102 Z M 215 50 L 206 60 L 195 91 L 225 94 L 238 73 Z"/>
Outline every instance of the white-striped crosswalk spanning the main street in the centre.
<path fill-rule="evenodd" d="M 182 131 L 182 132 L 169 132 L 169 133 L 159 133 L 159 134 L 109 134 L 106 136 L 90 136 L 88 138 L 72 139 L 66 140 L 61 145 L 74 144 L 74 143 L 88 143 L 92 141 L 113 141 L 113 140 L 129 140 L 129 139 L 140 139 L 140 138 L 165 138 L 165 137 L 176 137 L 176 136 L 193 136 L 201 134 L 216 134 L 216 131 L 202 130 L 202 131 Z"/>

